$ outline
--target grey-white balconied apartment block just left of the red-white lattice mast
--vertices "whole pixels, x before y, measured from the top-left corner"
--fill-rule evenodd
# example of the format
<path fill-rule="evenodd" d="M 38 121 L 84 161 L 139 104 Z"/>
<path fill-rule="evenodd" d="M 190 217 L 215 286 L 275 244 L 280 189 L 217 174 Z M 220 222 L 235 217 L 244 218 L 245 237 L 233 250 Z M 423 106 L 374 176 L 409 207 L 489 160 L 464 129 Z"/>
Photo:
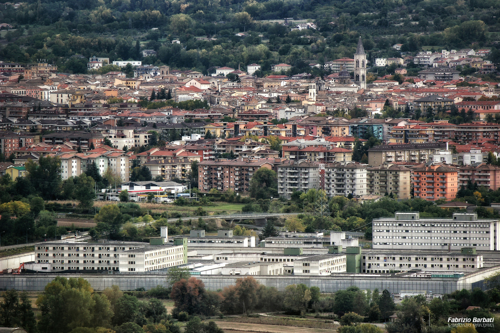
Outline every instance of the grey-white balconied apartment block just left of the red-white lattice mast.
<path fill-rule="evenodd" d="M 293 191 L 307 192 L 319 187 L 318 162 L 286 160 L 275 168 L 280 197 L 290 199 Z"/>

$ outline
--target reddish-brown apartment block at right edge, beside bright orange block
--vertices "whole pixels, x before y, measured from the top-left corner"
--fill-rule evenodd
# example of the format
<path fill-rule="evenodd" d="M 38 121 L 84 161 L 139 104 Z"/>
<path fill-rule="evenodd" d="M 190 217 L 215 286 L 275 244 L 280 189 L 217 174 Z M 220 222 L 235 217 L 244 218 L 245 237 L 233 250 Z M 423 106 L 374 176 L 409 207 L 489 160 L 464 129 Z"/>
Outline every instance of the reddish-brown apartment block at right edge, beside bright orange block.
<path fill-rule="evenodd" d="M 484 162 L 461 167 L 458 170 L 458 186 L 467 186 L 468 181 L 488 190 L 500 189 L 500 167 Z"/>

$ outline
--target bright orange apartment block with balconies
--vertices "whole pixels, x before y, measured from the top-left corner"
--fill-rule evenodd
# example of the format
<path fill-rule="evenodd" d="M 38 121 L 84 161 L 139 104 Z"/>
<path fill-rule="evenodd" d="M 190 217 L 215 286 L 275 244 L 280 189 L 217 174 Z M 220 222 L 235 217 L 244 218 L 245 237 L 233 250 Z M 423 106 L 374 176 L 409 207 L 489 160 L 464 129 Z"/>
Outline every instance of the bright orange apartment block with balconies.
<path fill-rule="evenodd" d="M 413 197 L 427 201 L 455 199 L 458 172 L 458 168 L 435 162 L 412 167 Z"/>

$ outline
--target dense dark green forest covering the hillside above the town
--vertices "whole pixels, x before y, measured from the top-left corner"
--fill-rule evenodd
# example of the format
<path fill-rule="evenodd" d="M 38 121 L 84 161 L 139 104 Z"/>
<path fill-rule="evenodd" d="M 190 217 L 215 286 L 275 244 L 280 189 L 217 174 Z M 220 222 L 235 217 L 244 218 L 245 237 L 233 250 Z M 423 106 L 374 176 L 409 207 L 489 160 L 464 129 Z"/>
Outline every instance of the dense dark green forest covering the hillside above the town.
<path fill-rule="evenodd" d="M 86 72 L 93 55 L 205 74 L 214 66 L 244 69 L 253 62 L 265 73 L 286 62 L 298 73 L 311 71 L 309 62 L 352 56 L 359 35 L 372 62 L 399 56 L 395 43 L 414 53 L 495 47 L 500 39 L 498 0 L 29 0 L 2 6 L 0 22 L 14 29 L 0 34 L 1 60 L 46 59 L 70 73 Z M 276 21 L 285 17 L 314 22 L 317 29 L 291 30 L 293 24 Z M 141 49 L 158 55 L 143 58 Z"/>

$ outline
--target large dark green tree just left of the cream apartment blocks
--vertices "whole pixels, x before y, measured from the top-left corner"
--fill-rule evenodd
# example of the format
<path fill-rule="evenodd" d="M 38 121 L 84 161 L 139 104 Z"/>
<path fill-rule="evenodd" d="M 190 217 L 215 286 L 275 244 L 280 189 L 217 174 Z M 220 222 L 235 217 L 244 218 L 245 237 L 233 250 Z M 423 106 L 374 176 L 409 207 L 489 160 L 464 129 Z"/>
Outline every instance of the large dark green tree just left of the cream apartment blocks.
<path fill-rule="evenodd" d="M 58 157 L 40 157 L 38 163 L 31 159 L 25 164 L 27 179 L 43 199 L 55 199 L 59 194 L 61 162 Z"/>

